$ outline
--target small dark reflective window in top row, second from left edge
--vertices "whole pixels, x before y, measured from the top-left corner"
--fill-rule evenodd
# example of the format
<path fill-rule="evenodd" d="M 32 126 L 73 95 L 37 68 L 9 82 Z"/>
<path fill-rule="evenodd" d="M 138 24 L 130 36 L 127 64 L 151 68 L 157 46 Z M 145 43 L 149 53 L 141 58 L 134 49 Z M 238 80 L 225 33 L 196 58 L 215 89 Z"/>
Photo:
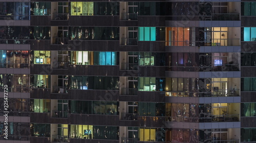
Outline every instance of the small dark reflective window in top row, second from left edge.
<path fill-rule="evenodd" d="M 51 15 L 51 2 L 32 2 L 31 15 Z"/>

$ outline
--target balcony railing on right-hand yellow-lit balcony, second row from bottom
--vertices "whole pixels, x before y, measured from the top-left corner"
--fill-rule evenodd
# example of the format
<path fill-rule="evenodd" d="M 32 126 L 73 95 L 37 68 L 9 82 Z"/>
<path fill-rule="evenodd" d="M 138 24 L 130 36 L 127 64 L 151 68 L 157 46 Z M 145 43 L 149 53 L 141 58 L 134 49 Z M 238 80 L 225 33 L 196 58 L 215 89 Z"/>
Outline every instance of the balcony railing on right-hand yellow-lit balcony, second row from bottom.
<path fill-rule="evenodd" d="M 212 122 L 239 122 L 239 115 L 212 115 Z"/>

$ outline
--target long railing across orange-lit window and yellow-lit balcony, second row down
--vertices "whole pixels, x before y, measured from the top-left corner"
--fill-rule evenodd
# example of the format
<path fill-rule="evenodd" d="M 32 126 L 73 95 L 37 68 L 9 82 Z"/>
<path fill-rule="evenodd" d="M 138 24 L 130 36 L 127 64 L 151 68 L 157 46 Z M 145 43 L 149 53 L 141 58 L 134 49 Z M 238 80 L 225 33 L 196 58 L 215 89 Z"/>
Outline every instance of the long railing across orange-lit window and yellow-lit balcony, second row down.
<path fill-rule="evenodd" d="M 240 46 L 240 39 L 209 39 L 205 41 L 165 41 L 165 46 Z"/>

